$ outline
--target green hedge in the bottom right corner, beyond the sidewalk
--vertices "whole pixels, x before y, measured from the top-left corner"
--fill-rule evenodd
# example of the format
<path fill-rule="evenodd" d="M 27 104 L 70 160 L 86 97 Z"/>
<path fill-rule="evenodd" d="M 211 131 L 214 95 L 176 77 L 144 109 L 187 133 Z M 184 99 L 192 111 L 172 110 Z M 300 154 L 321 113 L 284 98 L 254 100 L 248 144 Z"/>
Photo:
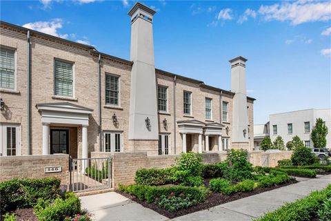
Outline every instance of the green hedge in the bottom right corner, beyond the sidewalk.
<path fill-rule="evenodd" d="M 314 191 L 303 199 L 287 203 L 256 221 L 309 221 L 317 217 L 318 210 L 328 198 L 331 198 L 331 184 L 322 191 Z"/>

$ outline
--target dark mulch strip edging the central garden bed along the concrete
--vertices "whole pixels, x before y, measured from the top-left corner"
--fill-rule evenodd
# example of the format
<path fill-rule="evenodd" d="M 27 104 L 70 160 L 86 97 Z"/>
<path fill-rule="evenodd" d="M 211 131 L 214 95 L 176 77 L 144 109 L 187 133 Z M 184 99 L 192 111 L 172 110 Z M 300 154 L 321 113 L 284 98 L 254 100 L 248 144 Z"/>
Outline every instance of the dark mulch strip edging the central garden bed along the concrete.
<path fill-rule="evenodd" d="M 206 186 L 209 187 L 209 179 L 204 180 L 204 183 L 207 184 Z M 139 200 L 138 198 L 134 197 L 133 195 L 127 194 L 127 193 L 122 193 L 117 191 L 118 193 L 120 193 L 121 195 L 125 196 L 126 198 L 129 198 L 130 200 L 133 200 L 134 202 L 138 202 L 139 204 L 141 204 L 142 206 L 152 209 L 154 211 L 156 211 L 157 213 L 164 215 L 167 218 L 176 218 L 178 216 L 181 215 L 186 215 L 188 213 L 194 213 L 197 211 L 201 211 L 203 209 L 209 209 L 212 206 L 217 206 L 219 204 L 224 204 L 226 202 L 231 202 L 234 200 L 239 200 L 241 198 L 247 198 L 250 195 L 256 195 L 259 193 L 263 193 L 265 191 L 271 191 L 272 189 L 277 189 L 279 187 L 283 187 L 283 186 L 288 186 L 290 184 L 295 184 L 297 183 L 297 180 L 290 180 L 290 182 L 286 183 L 286 184 L 281 184 L 278 186 L 272 186 L 272 187 L 267 187 L 267 188 L 262 188 L 259 187 L 257 189 L 254 189 L 251 192 L 243 192 L 243 193 L 234 193 L 232 195 L 223 195 L 221 193 L 214 193 L 212 192 L 208 198 L 205 200 L 205 202 L 201 202 L 199 204 L 196 204 L 194 206 L 189 207 L 188 209 L 182 209 L 180 211 L 175 211 L 175 212 L 168 212 L 165 209 L 160 208 L 159 206 L 157 206 L 157 204 L 154 203 L 148 203 L 146 201 L 143 200 Z"/>

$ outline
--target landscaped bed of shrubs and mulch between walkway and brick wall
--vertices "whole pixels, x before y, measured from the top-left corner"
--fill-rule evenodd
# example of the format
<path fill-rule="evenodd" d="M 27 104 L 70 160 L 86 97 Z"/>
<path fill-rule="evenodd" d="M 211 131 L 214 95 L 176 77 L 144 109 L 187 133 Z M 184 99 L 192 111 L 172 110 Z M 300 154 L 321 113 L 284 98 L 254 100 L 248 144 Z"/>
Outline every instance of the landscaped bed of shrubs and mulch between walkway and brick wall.
<path fill-rule="evenodd" d="M 140 169 L 136 184 L 119 185 L 119 193 L 168 218 L 297 182 L 281 171 L 254 169 L 248 152 L 231 150 L 225 162 L 201 164 L 195 153 L 183 153 L 169 169 Z"/>

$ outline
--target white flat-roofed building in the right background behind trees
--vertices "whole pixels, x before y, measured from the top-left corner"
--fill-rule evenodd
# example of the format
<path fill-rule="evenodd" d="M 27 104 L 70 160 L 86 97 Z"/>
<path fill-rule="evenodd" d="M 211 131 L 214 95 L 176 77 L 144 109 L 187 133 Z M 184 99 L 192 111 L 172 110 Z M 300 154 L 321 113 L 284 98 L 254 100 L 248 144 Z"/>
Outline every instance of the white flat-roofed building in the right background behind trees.
<path fill-rule="evenodd" d="M 331 147 L 331 109 L 308 109 L 302 111 L 290 111 L 276 113 L 269 116 L 267 124 L 254 125 L 254 149 L 259 147 L 263 137 L 270 135 L 272 142 L 277 136 L 281 136 L 284 143 L 291 141 L 294 136 L 299 136 L 305 146 L 313 147 L 311 140 L 312 128 L 316 119 L 321 118 L 328 127 L 326 147 Z"/>

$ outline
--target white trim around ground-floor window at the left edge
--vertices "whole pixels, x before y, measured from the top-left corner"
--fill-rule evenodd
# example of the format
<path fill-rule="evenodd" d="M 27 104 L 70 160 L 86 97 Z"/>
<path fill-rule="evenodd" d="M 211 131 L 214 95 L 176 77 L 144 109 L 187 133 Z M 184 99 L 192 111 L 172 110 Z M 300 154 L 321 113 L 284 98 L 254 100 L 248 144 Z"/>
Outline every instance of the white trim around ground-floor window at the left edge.
<path fill-rule="evenodd" d="M 16 155 L 21 155 L 21 125 L 19 124 L 0 124 L 0 153 L 2 156 L 7 155 L 7 127 L 15 127 L 16 131 Z"/>

